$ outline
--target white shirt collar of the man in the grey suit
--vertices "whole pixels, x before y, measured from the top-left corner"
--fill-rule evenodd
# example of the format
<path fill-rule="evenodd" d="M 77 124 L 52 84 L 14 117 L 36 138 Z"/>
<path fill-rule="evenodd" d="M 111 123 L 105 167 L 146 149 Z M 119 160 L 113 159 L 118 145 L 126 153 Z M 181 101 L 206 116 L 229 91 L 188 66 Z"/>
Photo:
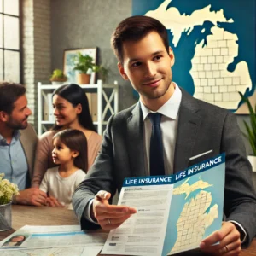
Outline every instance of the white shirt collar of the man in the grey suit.
<path fill-rule="evenodd" d="M 174 82 L 173 82 L 174 83 Z M 170 119 L 177 119 L 177 113 L 179 110 L 179 106 L 181 103 L 181 99 L 182 99 L 182 92 L 181 90 L 178 88 L 177 84 L 175 84 L 175 90 L 172 94 L 172 96 L 170 97 L 170 99 L 161 107 L 159 108 L 156 112 L 157 113 L 161 113 L 162 115 L 165 115 L 166 117 L 170 118 Z M 140 104 L 141 104 L 141 108 L 143 111 L 143 120 L 146 119 L 146 117 L 148 116 L 148 113 L 152 113 L 153 111 L 151 111 L 150 109 L 148 109 L 143 102 L 140 100 Z"/>

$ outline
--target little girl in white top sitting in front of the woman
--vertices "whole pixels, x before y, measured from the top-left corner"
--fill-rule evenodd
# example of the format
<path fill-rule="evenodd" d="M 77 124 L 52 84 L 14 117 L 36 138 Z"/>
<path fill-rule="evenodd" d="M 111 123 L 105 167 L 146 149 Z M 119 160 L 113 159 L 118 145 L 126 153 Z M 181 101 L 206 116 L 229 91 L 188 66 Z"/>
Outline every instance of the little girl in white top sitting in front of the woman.
<path fill-rule="evenodd" d="M 73 192 L 86 176 L 87 140 L 84 132 L 67 129 L 55 134 L 53 144 L 52 158 L 59 166 L 45 172 L 40 190 L 48 193 L 47 206 L 73 209 Z"/>

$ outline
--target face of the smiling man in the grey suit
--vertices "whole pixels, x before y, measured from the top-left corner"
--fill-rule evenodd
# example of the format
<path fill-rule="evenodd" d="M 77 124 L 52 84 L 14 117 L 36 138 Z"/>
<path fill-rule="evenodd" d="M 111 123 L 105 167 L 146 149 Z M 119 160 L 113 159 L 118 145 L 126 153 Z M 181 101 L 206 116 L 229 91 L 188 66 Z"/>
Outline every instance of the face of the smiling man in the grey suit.
<path fill-rule="evenodd" d="M 166 47 L 157 32 L 149 32 L 140 41 L 123 44 L 123 65 L 119 73 L 130 80 L 146 106 L 166 102 L 172 96 L 172 69 L 174 55 Z"/>

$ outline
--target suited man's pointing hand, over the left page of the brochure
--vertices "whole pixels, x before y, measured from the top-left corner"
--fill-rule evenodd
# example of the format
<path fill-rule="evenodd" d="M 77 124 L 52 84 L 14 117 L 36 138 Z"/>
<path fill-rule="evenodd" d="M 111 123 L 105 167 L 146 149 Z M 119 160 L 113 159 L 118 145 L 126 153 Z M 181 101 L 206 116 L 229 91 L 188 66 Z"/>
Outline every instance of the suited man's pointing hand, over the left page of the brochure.
<path fill-rule="evenodd" d="M 93 200 L 90 212 L 90 217 L 95 219 L 103 230 L 118 228 L 120 224 L 137 212 L 133 207 L 109 205 L 110 197 L 111 194 L 107 191 L 99 191 Z"/>

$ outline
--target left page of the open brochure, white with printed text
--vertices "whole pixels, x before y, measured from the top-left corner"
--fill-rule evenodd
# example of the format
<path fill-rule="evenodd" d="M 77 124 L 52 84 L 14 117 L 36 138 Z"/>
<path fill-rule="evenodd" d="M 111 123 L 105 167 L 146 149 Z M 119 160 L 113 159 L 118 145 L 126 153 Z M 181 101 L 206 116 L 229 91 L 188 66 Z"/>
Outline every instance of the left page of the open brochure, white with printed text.
<path fill-rule="evenodd" d="M 137 213 L 110 231 L 102 254 L 161 255 L 172 201 L 172 178 L 125 178 L 118 204 L 135 207 Z"/>

